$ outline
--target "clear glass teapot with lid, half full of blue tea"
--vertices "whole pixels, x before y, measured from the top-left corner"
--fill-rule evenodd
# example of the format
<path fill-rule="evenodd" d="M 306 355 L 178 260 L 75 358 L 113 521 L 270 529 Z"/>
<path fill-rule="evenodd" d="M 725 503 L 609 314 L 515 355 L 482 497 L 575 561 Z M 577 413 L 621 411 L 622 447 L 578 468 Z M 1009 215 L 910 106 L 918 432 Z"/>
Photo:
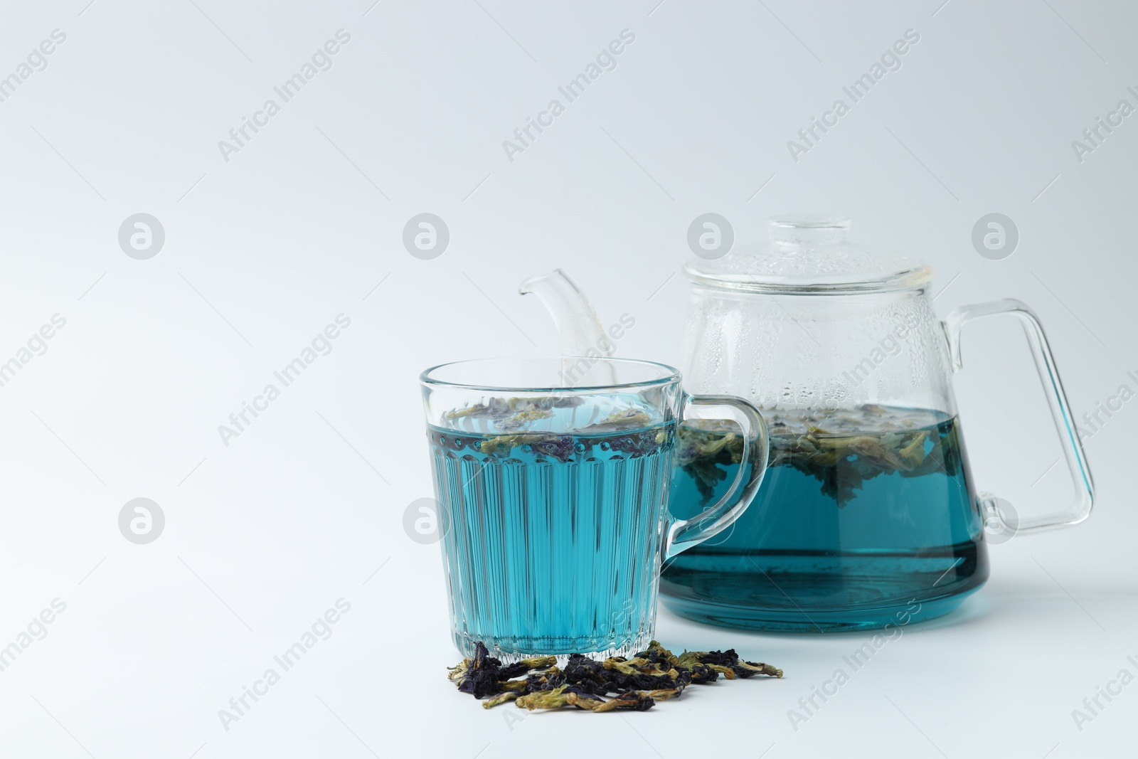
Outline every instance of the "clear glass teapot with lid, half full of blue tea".
<path fill-rule="evenodd" d="M 692 282 L 685 386 L 750 399 L 770 432 L 767 472 L 747 512 L 673 559 L 660 583 L 673 611 L 753 629 L 825 632 L 947 613 L 988 578 L 986 528 L 999 539 L 1090 513 L 1090 471 L 1041 325 L 1019 300 L 937 319 L 932 270 L 849 241 L 849 220 L 785 216 L 769 245 L 684 266 Z M 560 272 L 533 278 L 563 355 L 611 353 L 588 302 Z M 972 484 L 951 374 L 960 330 L 1020 319 L 1075 481 L 1066 511 L 1016 520 Z M 679 430 L 670 503 L 714 503 L 743 461 L 721 420 Z M 747 472 L 743 472 L 744 475 Z M 1003 504 L 1003 505 L 1001 505 Z"/>

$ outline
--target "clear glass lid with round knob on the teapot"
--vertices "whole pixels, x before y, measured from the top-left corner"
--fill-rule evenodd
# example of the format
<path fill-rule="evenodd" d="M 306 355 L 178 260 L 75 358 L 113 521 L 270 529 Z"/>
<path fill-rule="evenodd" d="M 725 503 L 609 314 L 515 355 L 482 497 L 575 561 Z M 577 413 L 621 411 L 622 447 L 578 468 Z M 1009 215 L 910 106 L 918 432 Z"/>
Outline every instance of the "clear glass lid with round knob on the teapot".
<path fill-rule="evenodd" d="M 849 230 L 850 220 L 840 216 L 777 216 L 768 222 L 766 246 L 692 259 L 684 274 L 709 287 L 782 294 L 894 290 L 932 279 L 931 266 L 857 246 Z"/>

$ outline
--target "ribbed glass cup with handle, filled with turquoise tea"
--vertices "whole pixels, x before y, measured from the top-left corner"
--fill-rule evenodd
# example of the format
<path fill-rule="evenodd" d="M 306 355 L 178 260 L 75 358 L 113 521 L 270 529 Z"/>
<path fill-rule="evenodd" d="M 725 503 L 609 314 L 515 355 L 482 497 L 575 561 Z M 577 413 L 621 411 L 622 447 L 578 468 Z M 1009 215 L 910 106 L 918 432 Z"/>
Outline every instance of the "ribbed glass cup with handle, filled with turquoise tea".
<path fill-rule="evenodd" d="M 766 470 L 758 411 L 688 395 L 662 364 L 477 360 L 420 381 L 451 627 L 464 655 L 478 641 L 504 661 L 645 649 L 661 561 L 734 522 Z M 737 424 L 749 465 L 716 503 L 677 519 L 667 509 L 676 426 L 698 419 Z"/>

